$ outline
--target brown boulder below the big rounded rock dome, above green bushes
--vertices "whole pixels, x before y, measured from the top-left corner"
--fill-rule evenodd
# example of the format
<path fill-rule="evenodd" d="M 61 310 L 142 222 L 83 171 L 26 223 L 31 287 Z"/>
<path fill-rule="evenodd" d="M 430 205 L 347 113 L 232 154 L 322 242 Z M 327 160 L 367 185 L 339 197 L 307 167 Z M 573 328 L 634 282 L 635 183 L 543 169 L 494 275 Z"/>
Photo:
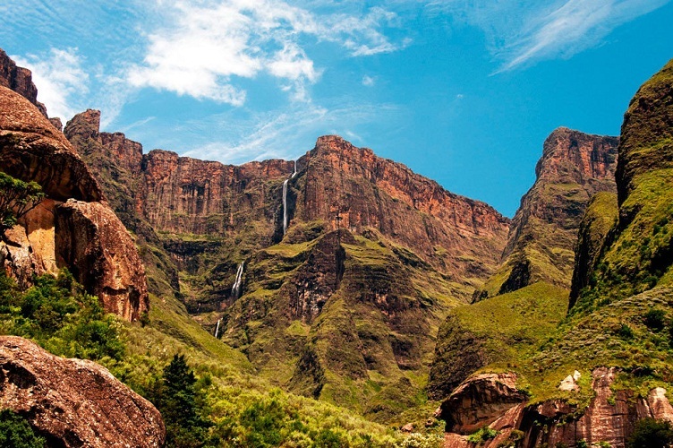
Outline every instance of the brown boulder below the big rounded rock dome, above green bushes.
<path fill-rule="evenodd" d="M 56 209 L 56 260 L 93 291 L 108 313 L 135 321 L 149 309 L 145 269 L 124 225 L 100 202 L 69 200 Z"/>

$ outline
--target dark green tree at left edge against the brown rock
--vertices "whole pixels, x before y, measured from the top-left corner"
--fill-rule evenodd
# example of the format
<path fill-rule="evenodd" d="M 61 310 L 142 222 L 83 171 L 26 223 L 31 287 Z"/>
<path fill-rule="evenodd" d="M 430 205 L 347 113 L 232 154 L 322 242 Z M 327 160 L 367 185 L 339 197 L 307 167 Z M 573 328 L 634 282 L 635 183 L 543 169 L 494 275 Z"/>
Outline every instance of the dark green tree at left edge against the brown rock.
<path fill-rule="evenodd" d="M 45 194 L 37 182 L 23 182 L 0 171 L 0 237 L 26 213 L 34 209 Z"/>

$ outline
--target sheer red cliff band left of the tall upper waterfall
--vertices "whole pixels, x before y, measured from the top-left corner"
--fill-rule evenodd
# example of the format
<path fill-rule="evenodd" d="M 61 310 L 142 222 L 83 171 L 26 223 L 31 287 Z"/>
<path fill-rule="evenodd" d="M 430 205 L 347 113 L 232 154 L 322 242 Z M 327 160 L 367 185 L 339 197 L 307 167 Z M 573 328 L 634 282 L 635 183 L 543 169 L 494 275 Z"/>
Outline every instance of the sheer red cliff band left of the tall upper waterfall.
<path fill-rule="evenodd" d="M 250 162 L 240 167 L 150 151 L 143 159 L 143 191 L 139 210 L 153 227 L 175 233 L 224 235 L 251 221 L 274 233 L 280 204 L 277 183 L 289 177 L 294 164 L 285 160 Z"/>

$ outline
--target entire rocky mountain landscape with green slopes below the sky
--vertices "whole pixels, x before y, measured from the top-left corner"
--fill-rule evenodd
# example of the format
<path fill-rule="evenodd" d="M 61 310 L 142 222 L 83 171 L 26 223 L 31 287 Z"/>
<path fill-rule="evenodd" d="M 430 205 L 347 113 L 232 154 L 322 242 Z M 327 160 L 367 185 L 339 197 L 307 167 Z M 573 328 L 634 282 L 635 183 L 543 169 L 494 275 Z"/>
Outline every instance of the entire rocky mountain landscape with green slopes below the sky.
<path fill-rule="evenodd" d="M 621 135 L 554 130 L 509 220 L 337 135 L 234 166 L 62 131 L 0 50 L 0 415 L 47 446 L 673 442 L 672 92 L 670 62 Z"/>

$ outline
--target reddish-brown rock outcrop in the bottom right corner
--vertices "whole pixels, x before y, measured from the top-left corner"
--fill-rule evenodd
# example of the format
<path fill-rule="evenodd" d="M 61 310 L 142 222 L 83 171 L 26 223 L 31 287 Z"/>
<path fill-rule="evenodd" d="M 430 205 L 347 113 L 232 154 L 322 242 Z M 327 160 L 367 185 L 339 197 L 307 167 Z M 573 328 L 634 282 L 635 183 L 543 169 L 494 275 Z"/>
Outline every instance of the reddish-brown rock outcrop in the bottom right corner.
<path fill-rule="evenodd" d="M 652 389 L 646 398 L 610 386 L 618 371 L 599 367 L 592 372 L 594 397 L 585 409 L 565 400 L 542 401 L 528 405 L 526 396 L 516 389 L 512 374 L 475 375 L 461 384 L 442 403 L 441 417 L 447 421 L 445 447 L 474 446 L 464 437 L 481 426 L 497 431 L 484 447 L 506 446 L 588 446 L 600 443 L 626 446 L 626 440 L 640 418 L 661 418 L 673 422 L 666 390 Z M 513 444 L 514 446 L 514 444 Z"/>

